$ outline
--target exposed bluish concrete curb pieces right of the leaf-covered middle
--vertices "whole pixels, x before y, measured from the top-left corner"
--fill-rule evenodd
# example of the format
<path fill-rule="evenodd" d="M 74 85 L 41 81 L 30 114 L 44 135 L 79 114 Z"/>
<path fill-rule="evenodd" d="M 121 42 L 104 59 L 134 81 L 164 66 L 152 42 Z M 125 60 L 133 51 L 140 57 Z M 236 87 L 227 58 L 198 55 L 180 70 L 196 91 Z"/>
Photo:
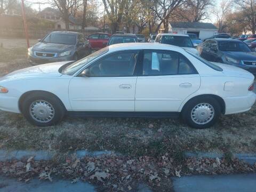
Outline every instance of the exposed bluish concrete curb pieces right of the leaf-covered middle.
<path fill-rule="evenodd" d="M 185 157 L 207 157 L 207 158 L 222 158 L 224 157 L 224 154 L 218 154 L 218 153 L 202 153 L 202 152 L 191 152 L 187 151 L 185 152 Z M 256 154 L 233 154 L 235 158 L 238 158 L 241 161 L 245 161 L 246 163 L 249 163 L 250 165 L 253 165 L 256 163 Z"/>

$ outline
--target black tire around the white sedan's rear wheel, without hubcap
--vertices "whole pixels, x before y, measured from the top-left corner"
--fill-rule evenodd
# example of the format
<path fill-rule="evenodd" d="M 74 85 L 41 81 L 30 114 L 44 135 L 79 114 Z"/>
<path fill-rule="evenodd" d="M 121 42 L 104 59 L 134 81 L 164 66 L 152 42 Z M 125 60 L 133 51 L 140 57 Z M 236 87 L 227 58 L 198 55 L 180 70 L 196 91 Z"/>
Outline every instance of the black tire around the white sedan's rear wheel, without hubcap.
<path fill-rule="evenodd" d="M 207 122 L 205 124 L 195 123 L 195 121 L 193 121 L 192 115 L 191 115 L 193 108 L 196 107 L 197 105 L 199 105 L 200 103 L 208 103 L 214 109 L 214 115 L 213 115 L 212 119 L 211 120 L 209 119 L 209 122 Z M 214 99 L 213 97 L 202 96 L 202 97 L 197 97 L 195 99 L 191 99 L 190 101 L 188 101 L 188 103 L 186 103 L 186 105 L 182 109 L 181 117 L 182 117 L 183 121 L 185 121 L 189 126 L 195 128 L 195 129 L 206 129 L 206 128 L 211 127 L 218 121 L 220 114 L 221 114 L 221 107 L 220 107 L 219 102 L 216 99 Z"/>

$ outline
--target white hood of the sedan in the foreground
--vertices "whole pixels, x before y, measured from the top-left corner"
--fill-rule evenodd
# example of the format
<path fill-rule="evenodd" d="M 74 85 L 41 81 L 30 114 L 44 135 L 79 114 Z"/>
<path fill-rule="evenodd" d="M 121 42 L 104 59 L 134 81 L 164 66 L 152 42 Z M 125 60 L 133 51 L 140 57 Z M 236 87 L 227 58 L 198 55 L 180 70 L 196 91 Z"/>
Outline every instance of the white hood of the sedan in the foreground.
<path fill-rule="evenodd" d="M 41 78 L 41 77 L 59 77 L 62 74 L 59 73 L 59 68 L 70 61 L 47 63 L 44 65 L 38 65 L 34 67 L 28 67 L 25 69 L 20 69 L 13 71 L 10 74 L 5 75 L 0 78 L 0 81 L 11 81 L 17 79 L 26 78 Z"/>

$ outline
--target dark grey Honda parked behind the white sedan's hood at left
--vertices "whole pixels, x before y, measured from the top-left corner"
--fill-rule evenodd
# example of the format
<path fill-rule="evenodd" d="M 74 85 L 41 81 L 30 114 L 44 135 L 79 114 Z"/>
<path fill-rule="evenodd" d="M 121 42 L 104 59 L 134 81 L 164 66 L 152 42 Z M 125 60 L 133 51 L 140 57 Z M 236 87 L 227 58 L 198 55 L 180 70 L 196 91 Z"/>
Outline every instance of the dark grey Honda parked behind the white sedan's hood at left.
<path fill-rule="evenodd" d="M 83 34 L 70 31 L 54 31 L 28 49 L 32 65 L 49 62 L 78 60 L 91 54 L 92 48 Z"/>

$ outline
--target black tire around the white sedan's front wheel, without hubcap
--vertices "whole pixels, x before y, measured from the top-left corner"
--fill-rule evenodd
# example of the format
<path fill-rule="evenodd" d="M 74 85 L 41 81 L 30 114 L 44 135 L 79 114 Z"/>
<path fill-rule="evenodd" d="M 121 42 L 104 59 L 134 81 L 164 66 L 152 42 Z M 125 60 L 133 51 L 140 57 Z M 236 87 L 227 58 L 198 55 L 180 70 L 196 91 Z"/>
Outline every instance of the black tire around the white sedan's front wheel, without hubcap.
<path fill-rule="evenodd" d="M 30 106 L 32 103 L 35 101 L 43 100 L 52 106 L 54 109 L 54 116 L 49 122 L 38 122 L 36 121 L 32 115 L 30 115 Z M 54 95 L 50 93 L 45 93 L 45 92 L 37 92 L 37 93 L 32 93 L 29 94 L 25 99 L 23 99 L 21 103 L 21 111 L 22 114 L 25 116 L 25 118 L 33 125 L 36 126 L 51 126 L 51 125 L 56 125 L 58 124 L 62 118 L 66 114 L 66 108 L 63 106 L 62 102 L 55 97 Z"/>

